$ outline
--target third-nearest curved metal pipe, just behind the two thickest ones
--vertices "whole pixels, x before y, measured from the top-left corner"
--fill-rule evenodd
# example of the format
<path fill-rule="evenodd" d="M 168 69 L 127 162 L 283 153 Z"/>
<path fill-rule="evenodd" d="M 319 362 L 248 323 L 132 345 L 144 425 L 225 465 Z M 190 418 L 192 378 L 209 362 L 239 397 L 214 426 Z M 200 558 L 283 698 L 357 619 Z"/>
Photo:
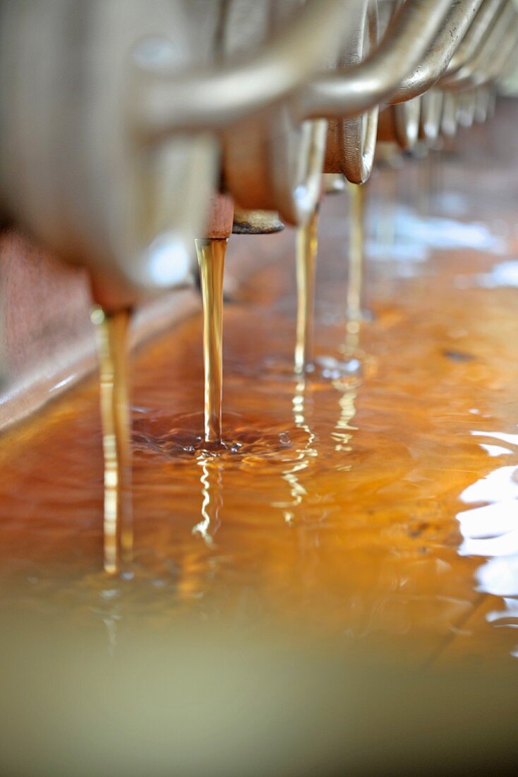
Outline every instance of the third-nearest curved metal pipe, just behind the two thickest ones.
<path fill-rule="evenodd" d="M 427 92 L 446 71 L 484 0 L 458 0 L 447 16 L 426 57 L 404 78 L 391 103 L 403 103 Z"/>

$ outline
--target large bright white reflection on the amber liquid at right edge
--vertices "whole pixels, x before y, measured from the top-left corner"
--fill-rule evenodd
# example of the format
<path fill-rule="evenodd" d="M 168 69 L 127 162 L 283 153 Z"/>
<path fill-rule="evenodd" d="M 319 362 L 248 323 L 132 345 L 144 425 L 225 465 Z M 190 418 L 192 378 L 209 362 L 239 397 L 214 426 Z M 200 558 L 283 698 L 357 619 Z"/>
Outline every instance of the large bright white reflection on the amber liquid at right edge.
<path fill-rule="evenodd" d="M 518 443 L 518 434 L 474 431 L 474 436 Z M 481 443 L 491 456 L 515 451 Z M 502 597 L 504 609 L 489 611 L 488 623 L 518 629 L 518 467 L 501 466 L 461 493 L 467 504 L 478 504 L 457 515 L 463 542 L 461 556 L 485 556 L 476 572 L 478 590 Z M 480 504 L 483 503 L 483 504 Z M 518 657 L 518 647 L 512 651 Z"/>

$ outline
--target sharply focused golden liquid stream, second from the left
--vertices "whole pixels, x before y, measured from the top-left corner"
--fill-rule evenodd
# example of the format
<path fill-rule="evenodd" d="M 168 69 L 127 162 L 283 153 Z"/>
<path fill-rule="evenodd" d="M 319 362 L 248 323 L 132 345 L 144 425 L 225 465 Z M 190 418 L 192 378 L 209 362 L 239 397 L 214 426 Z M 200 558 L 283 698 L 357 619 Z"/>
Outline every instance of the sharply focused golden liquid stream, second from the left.
<path fill-rule="evenodd" d="M 197 239 L 203 301 L 203 368 L 205 371 L 205 442 L 221 443 L 223 396 L 223 273 L 227 239 Z"/>

